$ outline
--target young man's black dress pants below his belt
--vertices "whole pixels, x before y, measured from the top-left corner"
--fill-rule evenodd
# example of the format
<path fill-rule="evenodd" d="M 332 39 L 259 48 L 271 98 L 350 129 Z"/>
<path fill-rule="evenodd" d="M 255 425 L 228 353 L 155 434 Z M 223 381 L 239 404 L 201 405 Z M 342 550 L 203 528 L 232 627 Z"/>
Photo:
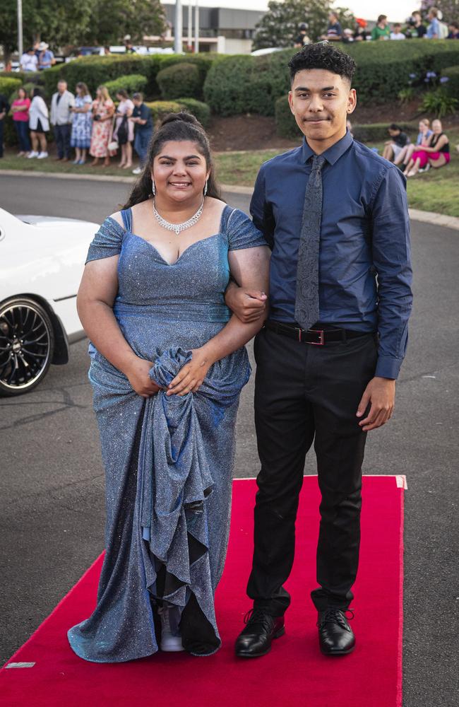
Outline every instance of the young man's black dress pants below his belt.
<path fill-rule="evenodd" d="M 348 607 L 359 561 L 366 440 L 356 412 L 374 377 L 376 337 L 365 334 L 316 346 L 262 329 L 254 352 L 261 472 L 247 593 L 255 607 L 273 616 L 282 615 L 290 604 L 282 584 L 292 569 L 304 460 L 314 441 L 321 522 L 316 566 L 319 588 L 311 592 L 311 598 L 320 611 Z"/>

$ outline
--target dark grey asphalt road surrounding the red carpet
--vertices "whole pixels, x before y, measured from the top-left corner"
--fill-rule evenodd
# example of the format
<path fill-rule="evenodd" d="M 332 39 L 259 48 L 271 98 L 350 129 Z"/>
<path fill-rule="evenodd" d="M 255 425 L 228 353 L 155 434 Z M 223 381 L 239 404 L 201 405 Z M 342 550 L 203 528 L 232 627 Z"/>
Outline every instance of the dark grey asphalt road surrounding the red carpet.
<path fill-rule="evenodd" d="M 102 221 L 126 200 L 128 189 L 0 173 L 0 206 Z M 248 208 L 248 197 L 229 194 L 228 201 Z M 364 472 L 407 475 L 404 705 L 446 707 L 459 701 L 459 233 L 412 223 L 412 249 L 409 351 L 395 414 L 371 433 Z M 71 354 L 70 363 L 53 366 L 34 392 L 0 401 L 2 663 L 103 549 L 104 478 L 85 341 Z M 249 383 L 239 411 L 239 477 L 258 471 L 252 394 Z M 306 473 L 314 472 L 310 457 Z M 384 623 L 386 607 L 374 607 L 374 620 Z"/>

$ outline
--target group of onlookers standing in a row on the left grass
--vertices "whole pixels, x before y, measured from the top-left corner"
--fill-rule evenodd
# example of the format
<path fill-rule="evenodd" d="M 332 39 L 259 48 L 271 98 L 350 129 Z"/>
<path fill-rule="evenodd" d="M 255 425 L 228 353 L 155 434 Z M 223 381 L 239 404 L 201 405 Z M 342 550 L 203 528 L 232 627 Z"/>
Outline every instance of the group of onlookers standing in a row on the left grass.
<path fill-rule="evenodd" d="M 93 157 L 92 166 L 108 166 L 110 158 L 120 153 L 119 167 L 133 166 L 133 147 L 140 158 L 138 174 L 145 161 L 150 137 L 153 134 L 153 117 L 150 108 L 143 103 L 143 94 L 134 93 L 132 100 L 124 89 L 116 94 L 117 105 L 106 86 L 99 86 L 95 99 L 83 82 L 76 84 L 75 93 L 68 90 L 67 82 L 60 79 L 51 100 L 51 110 L 35 86 L 30 95 L 19 88 L 11 106 L 5 98 L 0 101 L 0 128 L 2 117 L 11 110 L 18 136 L 18 156 L 29 159 L 49 157 L 47 136 L 52 127 L 56 141 L 56 160 L 74 165 L 84 165 L 88 154 Z M 3 136 L 0 135 L 0 146 Z M 0 152 L 0 157 L 2 153 Z"/>

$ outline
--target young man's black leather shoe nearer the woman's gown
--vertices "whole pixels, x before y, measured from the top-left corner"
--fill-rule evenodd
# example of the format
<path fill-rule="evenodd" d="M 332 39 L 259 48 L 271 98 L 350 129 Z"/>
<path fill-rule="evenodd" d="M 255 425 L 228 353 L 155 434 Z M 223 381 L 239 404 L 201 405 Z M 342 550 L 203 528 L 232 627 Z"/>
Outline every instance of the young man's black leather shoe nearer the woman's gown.
<path fill-rule="evenodd" d="M 272 617 L 261 609 L 251 609 L 244 617 L 245 629 L 236 641 L 239 658 L 260 658 L 271 650 L 273 638 L 285 633 L 284 617 Z"/>

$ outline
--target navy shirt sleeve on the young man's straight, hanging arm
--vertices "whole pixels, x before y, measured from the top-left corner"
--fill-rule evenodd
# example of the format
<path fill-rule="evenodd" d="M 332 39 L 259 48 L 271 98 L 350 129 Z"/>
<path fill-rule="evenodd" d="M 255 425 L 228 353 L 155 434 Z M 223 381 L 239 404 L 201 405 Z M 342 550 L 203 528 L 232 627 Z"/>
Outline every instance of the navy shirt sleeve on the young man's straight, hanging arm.
<path fill-rule="evenodd" d="M 372 251 L 378 279 L 376 376 L 398 378 L 412 310 L 410 218 L 406 180 L 391 167 L 376 185 L 371 209 Z"/>

